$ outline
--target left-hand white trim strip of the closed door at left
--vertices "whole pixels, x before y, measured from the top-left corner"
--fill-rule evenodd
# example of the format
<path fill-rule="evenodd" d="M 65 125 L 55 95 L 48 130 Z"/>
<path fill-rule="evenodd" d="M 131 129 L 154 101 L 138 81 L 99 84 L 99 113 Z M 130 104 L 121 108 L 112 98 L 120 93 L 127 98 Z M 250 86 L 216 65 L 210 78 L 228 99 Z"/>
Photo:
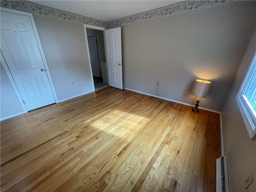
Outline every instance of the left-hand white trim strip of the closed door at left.
<path fill-rule="evenodd" d="M 11 72 L 10 72 L 10 70 L 9 70 L 9 68 L 8 68 L 8 66 L 7 66 L 7 64 L 6 64 L 6 62 L 5 62 L 4 56 L 3 56 L 3 54 L 2 54 L 2 51 L 1 51 L 1 63 L 2 63 L 2 66 L 4 67 L 4 71 L 5 71 L 5 73 L 6 73 L 7 77 L 8 77 L 8 79 L 9 79 L 11 85 L 12 85 L 12 88 L 13 88 L 13 90 L 14 90 L 14 92 L 15 92 L 17 98 L 18 98 L 18 101 L 20 102 L 20 106 L 22 107 L 23 112 L 24 112 L 24 113 L 27 113 L 28 110 L 27 110 L 25 104 L 23 103 L 23 100 L 22 100 L 22 97 L 21 97 L 21 95 L 20 95 L 20 92 L 19 92 L 19 90 L 18 90 L 18 88 L 17 88 L 17 86 L 16 86 L 16 84 L 15 84 L 15 82 L 14 82 L 14 79 L 13 79 L 13 77 L 12 77 L 12 74 L 11 74 Z"/>

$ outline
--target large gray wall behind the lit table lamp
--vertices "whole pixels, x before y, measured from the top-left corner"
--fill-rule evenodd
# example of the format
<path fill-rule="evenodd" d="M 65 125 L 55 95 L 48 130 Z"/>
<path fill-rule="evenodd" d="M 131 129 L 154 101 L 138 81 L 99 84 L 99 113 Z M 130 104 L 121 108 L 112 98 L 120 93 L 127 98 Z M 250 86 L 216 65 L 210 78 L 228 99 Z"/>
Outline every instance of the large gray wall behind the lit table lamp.
<path fill-rule="evenodd" d="M 212 81 L 200 106 L 221 111 L 256 22 L 256 2 L 122 27 L 124 87 L 195 104 L 197 78 Z"/>

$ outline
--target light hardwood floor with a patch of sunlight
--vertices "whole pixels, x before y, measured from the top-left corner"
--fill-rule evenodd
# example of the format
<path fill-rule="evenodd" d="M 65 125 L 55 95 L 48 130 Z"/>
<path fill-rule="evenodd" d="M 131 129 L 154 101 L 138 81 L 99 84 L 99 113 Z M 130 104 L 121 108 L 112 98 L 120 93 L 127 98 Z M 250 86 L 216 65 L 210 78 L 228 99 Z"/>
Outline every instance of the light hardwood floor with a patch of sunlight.
<path fill-rule="evenodd" d="M 108 87 L 2 121 L 1 191 L 213 192 L 220 155 L 219 114 Z"/>

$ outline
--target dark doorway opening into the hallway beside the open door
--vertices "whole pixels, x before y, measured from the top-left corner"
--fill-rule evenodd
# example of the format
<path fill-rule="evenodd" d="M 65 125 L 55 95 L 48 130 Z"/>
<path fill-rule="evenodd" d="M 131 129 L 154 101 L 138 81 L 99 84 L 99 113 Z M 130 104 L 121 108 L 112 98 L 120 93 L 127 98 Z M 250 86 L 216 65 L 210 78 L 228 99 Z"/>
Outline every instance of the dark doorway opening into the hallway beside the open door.
<path fill-rule="evenodd" d="M 99 90 L 108 86 L 104 31 L 86 27 L 86 36 L 94 89 Z"/>

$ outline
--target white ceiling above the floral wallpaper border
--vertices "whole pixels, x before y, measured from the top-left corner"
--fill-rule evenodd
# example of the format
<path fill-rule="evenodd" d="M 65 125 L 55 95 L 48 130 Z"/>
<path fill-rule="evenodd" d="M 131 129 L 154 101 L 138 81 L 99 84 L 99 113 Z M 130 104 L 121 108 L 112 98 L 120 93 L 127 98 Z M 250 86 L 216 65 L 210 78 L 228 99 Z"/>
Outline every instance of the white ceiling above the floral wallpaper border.
<path fill-rule="evenodd" d="M 177 0 L 30 0 L 44 6 L 80 14 L 90 18 L 111 21 L 125 16 L 141 13 Z"/>

